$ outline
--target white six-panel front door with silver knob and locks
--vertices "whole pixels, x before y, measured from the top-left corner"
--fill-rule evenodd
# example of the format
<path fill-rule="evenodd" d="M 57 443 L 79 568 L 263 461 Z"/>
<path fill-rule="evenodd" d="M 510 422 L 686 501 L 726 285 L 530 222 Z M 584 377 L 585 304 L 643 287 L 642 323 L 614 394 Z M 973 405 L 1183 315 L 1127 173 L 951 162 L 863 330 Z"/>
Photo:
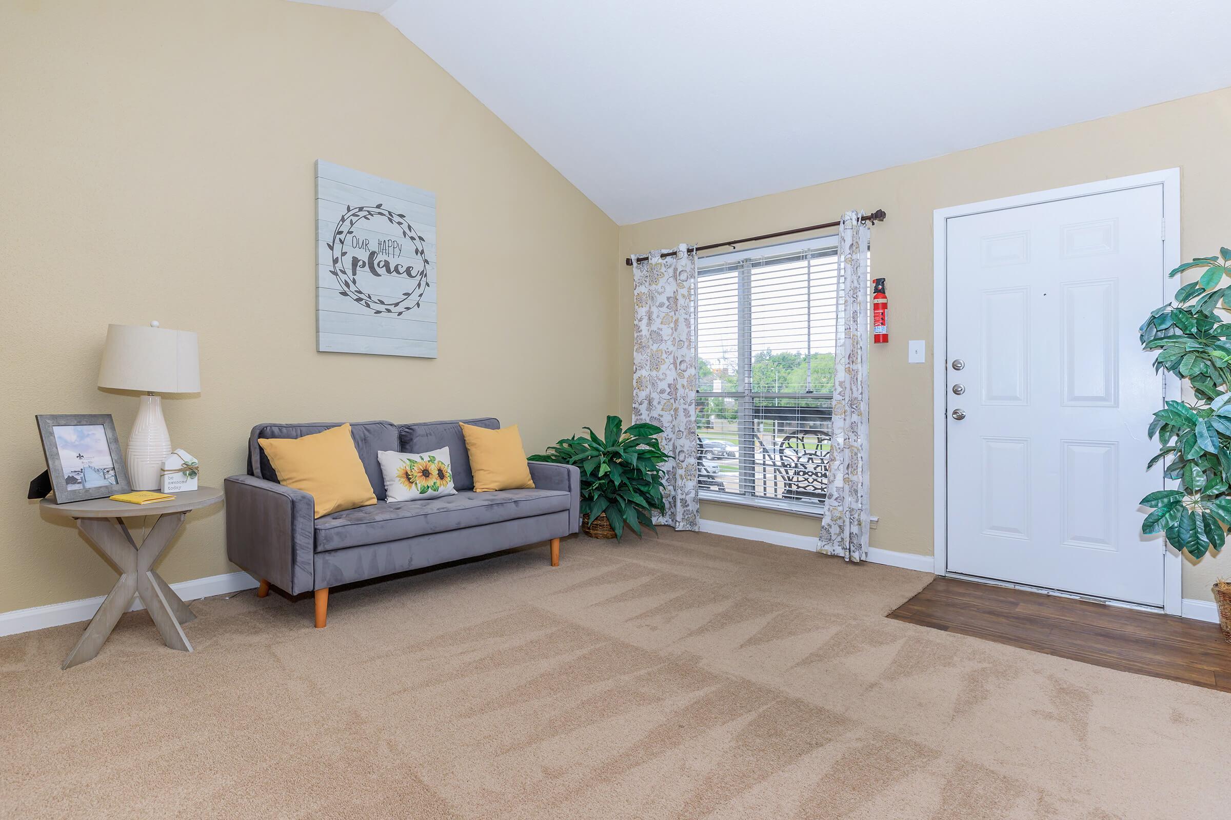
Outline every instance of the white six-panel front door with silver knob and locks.
<path fill-rule="evenodd" d="M 1158 183 L 948 220 L 949 572 L 1163 605 L 1162 218 Z"/>

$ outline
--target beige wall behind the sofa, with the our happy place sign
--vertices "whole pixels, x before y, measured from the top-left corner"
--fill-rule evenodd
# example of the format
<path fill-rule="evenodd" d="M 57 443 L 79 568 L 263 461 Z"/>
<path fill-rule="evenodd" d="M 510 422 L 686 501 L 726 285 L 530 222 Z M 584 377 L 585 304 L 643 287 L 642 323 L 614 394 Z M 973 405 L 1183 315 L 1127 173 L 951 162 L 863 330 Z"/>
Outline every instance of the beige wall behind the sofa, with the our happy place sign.
<path fill-rule="evenodd" d="M 201 334 L 202 392 L 166 416 L 208 484 L 262 420 L 491 413 L 540 449 L 618 403 L 617 226 L 380 17 L 6 1 L 0 76 L 0 611 L 114 581 L 25 500 L 36 413 L 112 413 L 127 438 L 135 398 L 95 387 L 108 322 Z M 316 353 L 318 157 L 436 192 L 438 359 Z M 222 510 L 160 570 L 234 570 Z"/>

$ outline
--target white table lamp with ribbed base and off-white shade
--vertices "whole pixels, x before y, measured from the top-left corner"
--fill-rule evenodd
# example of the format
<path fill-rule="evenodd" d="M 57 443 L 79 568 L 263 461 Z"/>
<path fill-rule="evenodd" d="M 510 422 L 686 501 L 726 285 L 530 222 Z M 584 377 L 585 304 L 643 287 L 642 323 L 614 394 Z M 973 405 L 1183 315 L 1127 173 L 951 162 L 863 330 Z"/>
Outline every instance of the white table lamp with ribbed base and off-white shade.
<path fill-rule="evenodd" d="M 98 386 L 145 392 L 128 436 L 124 463 L 133 489 L 158 489 L 162 462 L 171 455 L 171 435 L 158 393 L 201 392 L 197 334 L 159 327 L 158 322 L 149 327 L 108 325 Z"/>

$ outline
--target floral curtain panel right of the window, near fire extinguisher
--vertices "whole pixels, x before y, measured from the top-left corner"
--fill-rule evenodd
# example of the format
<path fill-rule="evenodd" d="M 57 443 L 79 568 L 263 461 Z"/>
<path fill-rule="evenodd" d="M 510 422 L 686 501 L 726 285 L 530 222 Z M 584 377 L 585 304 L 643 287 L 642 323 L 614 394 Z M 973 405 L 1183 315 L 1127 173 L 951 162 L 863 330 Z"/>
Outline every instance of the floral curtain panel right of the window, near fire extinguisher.
<path fill-rule="evenodd" d="M 833 373 L 830 483 L 817 552 L 868 554 L 868 224 L 848 210 L 838 227 L 841 347 Z"/>

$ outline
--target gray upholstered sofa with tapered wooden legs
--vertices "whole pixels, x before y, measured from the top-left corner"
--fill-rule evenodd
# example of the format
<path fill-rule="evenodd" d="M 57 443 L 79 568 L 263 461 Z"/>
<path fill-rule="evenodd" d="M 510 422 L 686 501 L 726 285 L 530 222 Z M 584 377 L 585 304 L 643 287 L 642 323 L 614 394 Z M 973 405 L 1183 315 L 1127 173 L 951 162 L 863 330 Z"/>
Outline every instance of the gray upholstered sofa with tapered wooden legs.
<path fill-rule="evenodd" d="M 464 419 L 497 429 L 494 418 Z M 249 438 L 247 475 L 223 483 L 227 493 L 227 556 L 270 585 L 316 597 L 316 626 L 325 626 L 329 589 L 339 584 L 483 556 L 540 541 L 551 542 L 559 566 L 560 537 L 577 531 L 580 473 L 569 465 L 529 462 L 534 489 L 474 492 L 474 476 L 458 422 L 352 422 L 351 436 L 377 503 L 313 518 L 313 497 L 283 487 L 257 439 L 297 439 L 340 422 L 257 424 Z M 455 495 L 385 502 L 378 450 L 426 452 L 447 446 Z"/>

